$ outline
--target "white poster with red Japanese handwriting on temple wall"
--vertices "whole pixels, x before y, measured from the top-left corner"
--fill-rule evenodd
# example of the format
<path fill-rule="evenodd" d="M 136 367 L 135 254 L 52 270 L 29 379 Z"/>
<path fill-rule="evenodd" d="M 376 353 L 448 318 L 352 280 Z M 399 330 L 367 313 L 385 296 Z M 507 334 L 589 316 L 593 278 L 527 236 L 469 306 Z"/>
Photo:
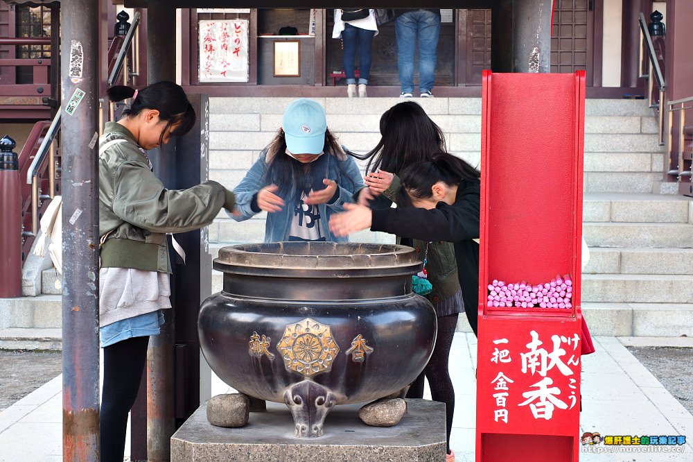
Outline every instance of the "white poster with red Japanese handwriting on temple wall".
<path fill-rule="evenodd" d="M 248 81 L 248 20 L 199 22 L 200 83 Z"/>

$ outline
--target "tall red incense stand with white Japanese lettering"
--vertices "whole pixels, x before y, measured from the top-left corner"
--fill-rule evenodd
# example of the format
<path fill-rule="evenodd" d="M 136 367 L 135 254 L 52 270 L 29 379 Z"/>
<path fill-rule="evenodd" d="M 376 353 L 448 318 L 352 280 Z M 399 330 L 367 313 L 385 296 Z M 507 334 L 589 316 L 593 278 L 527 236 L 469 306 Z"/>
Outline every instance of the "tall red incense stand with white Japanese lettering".
<path fill-rule="evenodd" d="M 584 98 L 584 71 L 484 71 L 477 462 L 578 460 Z"/>

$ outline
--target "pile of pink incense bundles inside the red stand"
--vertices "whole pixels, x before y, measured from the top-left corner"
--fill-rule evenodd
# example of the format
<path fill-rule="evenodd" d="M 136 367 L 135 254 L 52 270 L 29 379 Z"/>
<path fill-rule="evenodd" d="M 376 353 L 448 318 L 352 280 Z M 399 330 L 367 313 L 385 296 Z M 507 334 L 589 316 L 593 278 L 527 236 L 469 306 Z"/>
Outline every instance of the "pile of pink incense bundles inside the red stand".
<path fill-rule="evenodd" d="M 489 307 L 572 308 L 572 280 L 568 274 L 534 286 L 525 281 L 506 284 L 494 279 L 488 287 Z"/>

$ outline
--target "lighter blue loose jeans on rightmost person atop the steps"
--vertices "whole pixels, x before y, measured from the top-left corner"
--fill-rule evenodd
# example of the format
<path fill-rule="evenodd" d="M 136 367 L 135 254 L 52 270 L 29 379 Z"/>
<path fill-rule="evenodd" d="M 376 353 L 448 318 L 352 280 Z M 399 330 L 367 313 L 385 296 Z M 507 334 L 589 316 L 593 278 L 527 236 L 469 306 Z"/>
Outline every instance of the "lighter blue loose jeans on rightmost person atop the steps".
<path fill-rule="evenodd" d="M 403 93 L 414 91 L 414 49 L 419 38 L 419 89 L 428 92 L 435 83 L 436 49 L 440 16 L 428 10 L 405 12 L 394 23 L 397 35 L 397 68 Z M 345 45 L 346 47 L 346 45 Z"/>

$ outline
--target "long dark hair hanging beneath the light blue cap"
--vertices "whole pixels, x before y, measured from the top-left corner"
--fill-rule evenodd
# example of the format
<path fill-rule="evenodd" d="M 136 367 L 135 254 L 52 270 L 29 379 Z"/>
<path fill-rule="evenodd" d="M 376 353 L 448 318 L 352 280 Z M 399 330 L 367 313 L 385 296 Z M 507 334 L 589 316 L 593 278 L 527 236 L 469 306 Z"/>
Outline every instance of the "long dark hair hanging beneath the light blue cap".
<path fill-rule="evenodd" d="M 265 155 L 267 170 L 263 178 L 265 185 L 274 184 L 279 186 L 279 191 L 277 192 L 279 196 L 285 198 L 291 196 L 294 192 L 299 193 L 303 191 L 308 194 L 310 189 L 315 191 L 324 189 L 325 185 L 322 180 L 327 178 L 328 157 L 332 155 L 337 157 L 338 160 L 345 160 L 347 154 L 329 128 L 325 131 L 323 151 L 324 154 L 314 162 L 310 162 L 310 164 L 304 164 L 295 160 L 286 154 L 286 137 L 284 137 L 284 131 L 280 128 L 277 136 L 267 146 L 267 154 Z"/>

